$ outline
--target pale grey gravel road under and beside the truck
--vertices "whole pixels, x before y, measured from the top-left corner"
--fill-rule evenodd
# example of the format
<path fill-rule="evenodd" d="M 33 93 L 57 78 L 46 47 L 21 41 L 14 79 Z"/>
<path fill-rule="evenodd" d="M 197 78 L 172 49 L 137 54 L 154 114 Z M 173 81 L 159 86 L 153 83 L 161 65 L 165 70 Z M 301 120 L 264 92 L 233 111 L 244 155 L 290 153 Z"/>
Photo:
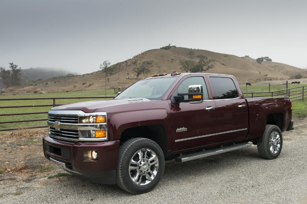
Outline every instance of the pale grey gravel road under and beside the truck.
<path fill-rule="evenodd" d="M 76 176 L 21 179 L 5 172 L 0 203 L 307 203 L 306 124 L 307 118 L 295 120 L 295 129 L 283 133 L 275 160 L 260 158 L 252 145 L 184 163 L 166 161 L 160 183 L 142 195 Z M 52 174 L 58 172 L 64 171 Z"/>

